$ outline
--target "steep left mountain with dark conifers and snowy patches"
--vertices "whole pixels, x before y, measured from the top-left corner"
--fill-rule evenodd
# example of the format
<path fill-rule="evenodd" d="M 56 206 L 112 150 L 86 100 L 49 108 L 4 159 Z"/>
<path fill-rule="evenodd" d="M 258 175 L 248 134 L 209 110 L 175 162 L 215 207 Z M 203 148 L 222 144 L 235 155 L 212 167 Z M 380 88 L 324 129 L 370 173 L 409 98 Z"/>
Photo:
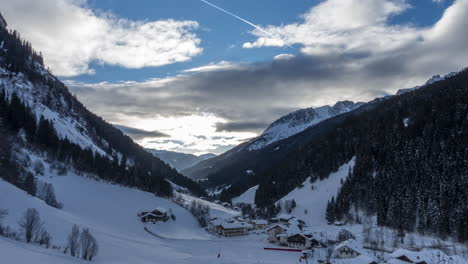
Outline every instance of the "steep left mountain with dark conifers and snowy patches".
<path fill-rule="evenodd" d="M 55 160 L 62 173 L 92 173 L 161 196 L 172 195 L 169 180 L 205 194 L 197 183 L 87 110 L 18 32 L 0 27 L 0 39 L 0 154 L 5 160 L 0 163 L 1 177 L 20 188 L 33 188 L 28 156 L 36 153 Z"/>

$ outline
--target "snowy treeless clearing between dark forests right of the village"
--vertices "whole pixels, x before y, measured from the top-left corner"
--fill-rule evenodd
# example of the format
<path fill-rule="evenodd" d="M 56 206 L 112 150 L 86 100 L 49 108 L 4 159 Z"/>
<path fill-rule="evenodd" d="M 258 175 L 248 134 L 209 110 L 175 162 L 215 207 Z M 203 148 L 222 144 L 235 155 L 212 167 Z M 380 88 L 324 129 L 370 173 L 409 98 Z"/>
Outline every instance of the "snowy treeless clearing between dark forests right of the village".
<path fill-rule="evenodd" d="M 337 172 L 330 174 L 327 179 L 310 183 L 308 178 L 303 183 L 304 187 L 294 189 L 281 198 L 279 202 L 294 199 L 296 208 L 293 209 L 291 214 L 305 220 L 309 226 L 327 225 L 325 220 L 327 202 L 333 196 L 336 197 L 341 186 L 341 180 L 346 179 L 349 169 L 353 166 L 354 159 L 341 166 Z M 305 210 L 307 210 L 307 213 Z"/>

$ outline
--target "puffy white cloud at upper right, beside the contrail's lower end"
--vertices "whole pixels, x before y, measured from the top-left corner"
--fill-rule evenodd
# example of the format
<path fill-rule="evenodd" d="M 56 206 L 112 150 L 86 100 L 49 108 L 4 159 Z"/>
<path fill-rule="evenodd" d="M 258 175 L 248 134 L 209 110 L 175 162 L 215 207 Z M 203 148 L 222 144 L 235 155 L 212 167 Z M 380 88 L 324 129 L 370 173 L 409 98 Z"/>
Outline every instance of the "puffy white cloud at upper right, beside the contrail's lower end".
<path fill-rule="evenodd" d="M 257 40 L 243 47 L 281 47 L 289 43 L 303 45 L 306 54 L 388 51 L 418 38 L 418 32 L 409 26 L 386 23 L 409 7 L 404 0 L 328 0 L 311 8 L 301 23 L 266 27 L 282 40 L 254 30 Z"/>

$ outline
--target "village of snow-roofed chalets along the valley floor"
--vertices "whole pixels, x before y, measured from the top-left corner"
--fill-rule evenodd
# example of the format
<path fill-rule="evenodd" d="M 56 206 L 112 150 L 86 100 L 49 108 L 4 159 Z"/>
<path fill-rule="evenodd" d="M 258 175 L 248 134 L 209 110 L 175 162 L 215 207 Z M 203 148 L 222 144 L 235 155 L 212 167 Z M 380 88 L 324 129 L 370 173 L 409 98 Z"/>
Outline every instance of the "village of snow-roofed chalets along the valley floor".
<path fill-rule="evenodd" d="M 229 203 L 215 201 L 216 204 L 240 211 Z M 175 219 L 171 209 L 157 207 L 153 211 L 140 212 L 141 222 L 155 224 Z M 329 223 L 341 226 L 343 223 Z M 465 263 L 459 256 L 449 256 L 439 249 L 405 249 L 382 252 L 366 248 L 354 234 L 341 229 L 336 237 L 328 237 L 326 232 L 312 230 L 302 219 L 290 214 L 280 214 L 269 219 L 251 219 L 238 215 L 210 217 L 205 230 L 218 238 L 232 239 L 242 236 L 263 236 L 263 250 L 299 252 L 305 263 L 320 264 L 458 264 Z M 268 243 L 268 244 L 267 244 Z M 309 262 L 314 261 L 314 262 Z"/>

